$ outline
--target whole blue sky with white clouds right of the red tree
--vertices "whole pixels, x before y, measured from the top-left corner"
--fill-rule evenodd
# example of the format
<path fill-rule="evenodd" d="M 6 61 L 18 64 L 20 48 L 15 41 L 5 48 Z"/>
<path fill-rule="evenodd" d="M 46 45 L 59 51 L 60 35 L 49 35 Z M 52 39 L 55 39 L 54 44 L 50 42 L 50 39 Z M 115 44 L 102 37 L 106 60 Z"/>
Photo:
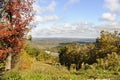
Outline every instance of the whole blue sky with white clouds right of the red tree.
<path fill-rule="evenodd" d="M 120 0 L 36 0 L 37 38 L 96 38 L 100 31 L 120 31 Z"/>

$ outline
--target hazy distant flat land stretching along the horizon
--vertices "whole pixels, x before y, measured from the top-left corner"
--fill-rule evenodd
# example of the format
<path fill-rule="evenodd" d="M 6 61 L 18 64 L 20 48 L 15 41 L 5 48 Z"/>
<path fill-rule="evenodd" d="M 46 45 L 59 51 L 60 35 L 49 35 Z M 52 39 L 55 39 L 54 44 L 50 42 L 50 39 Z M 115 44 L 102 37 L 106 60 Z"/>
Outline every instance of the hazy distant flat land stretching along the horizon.
<path fill-rule="evenodd" d="M 28 41 L 32 47 L 38 47 L 40 49 L 51 49 L 65 44 L 79 43 L 89 44 L 94 43 L 95 38 L 33 38 L 32 41 Z"/>

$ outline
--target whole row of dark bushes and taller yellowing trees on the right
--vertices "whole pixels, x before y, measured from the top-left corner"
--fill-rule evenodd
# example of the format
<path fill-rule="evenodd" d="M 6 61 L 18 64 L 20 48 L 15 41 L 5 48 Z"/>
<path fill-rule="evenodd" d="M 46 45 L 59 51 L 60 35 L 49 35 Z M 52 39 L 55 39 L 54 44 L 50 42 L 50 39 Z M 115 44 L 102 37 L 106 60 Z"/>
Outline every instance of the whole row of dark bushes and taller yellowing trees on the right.
<path fill-rule="evenodd" d="M 76 65 L 76 70 L 84 64 L 120 71 L 120 34 L 117 31 L 101 31 L 94 44 L 65 45 L 60 48 L 59 53 L 59 62 L 68 70 L 71 64 Z"/>

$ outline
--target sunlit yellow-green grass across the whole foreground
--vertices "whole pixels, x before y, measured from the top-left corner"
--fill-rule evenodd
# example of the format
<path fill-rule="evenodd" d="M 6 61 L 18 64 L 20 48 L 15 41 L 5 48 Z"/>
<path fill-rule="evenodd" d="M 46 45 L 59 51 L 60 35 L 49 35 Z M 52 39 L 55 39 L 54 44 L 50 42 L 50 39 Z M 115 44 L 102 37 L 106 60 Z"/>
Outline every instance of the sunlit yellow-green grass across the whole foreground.
<path fill-rule="evenodd" d="M 102 69 L 71 70 L 63 66 L 35 62 L 30 69 L 14 68 L 3 75 L 2 80 L 87 80 L 87 79 L 119 80 L 120 72 Z"/>

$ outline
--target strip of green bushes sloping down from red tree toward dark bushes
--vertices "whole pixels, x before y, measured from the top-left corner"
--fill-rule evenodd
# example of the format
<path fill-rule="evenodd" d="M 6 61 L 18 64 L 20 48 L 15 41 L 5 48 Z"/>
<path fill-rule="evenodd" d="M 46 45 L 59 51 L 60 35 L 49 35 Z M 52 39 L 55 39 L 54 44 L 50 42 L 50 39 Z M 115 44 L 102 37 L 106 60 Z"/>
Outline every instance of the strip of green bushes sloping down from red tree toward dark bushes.
<path fill-rule="evenodd" d="M 58 57 L 52 56 L 39 48 L 33 48 L 26 44 L 24 46 L 24 51 L 31 57 L 35 58 L 37 61 L 42 61 L 46 63 L 58 63 Z"/>

